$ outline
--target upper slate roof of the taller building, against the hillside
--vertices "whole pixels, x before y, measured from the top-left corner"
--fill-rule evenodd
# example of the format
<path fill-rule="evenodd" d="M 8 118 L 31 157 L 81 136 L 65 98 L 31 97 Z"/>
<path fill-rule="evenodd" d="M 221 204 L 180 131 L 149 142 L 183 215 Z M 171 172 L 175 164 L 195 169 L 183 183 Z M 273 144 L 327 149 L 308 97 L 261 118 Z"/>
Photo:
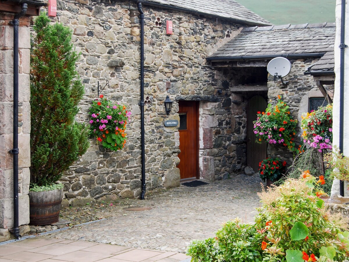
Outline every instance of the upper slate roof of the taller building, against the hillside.
<path fill-rule="evenodd" d="M 144 5 L 151 5 L 151 3 L 190 9 L 193 13 L 235 20 L 244 24 L 261 26 L 272 24 L 234 0 L 147 0 L 143 2 Z"/>

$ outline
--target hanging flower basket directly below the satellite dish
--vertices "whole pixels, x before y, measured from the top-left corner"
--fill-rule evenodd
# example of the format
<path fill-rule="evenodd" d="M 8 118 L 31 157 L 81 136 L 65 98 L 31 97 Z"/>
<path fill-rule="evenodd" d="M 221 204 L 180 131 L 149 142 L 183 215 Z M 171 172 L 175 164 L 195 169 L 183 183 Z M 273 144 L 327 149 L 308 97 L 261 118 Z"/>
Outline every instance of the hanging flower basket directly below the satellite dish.
<path fill-rule="evenodd" d="M 278 96 L 276 105 L 268 104 L 265 112 L 257 112 L 257 120 L 253 122 L 253 132 L 257 142 L 287 146 L 292 152 L 298 152 L 294 144 L 297 120 L 292 119 L 289 106 Z"/>

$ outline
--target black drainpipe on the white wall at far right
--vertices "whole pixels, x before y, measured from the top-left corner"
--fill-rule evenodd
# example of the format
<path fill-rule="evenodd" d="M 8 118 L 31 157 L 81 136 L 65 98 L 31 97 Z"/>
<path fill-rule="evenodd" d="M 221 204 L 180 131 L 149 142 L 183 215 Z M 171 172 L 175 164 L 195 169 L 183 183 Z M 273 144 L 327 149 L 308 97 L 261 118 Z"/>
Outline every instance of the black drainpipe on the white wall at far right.
<path fill-rule="evenodd" d="M 345 22 L 346 21 L 346 0 L 342 0 L 342 15 L 341 15 L 341 60 L 340 60 L 340 100 L 339 100 L 339 151 L 343 153 L 344 140 L 344 49 L 348 47 L 344 44 L 345 38 Z M 344 196 L 344 181 L 339 182 L 340 195 Z"/>

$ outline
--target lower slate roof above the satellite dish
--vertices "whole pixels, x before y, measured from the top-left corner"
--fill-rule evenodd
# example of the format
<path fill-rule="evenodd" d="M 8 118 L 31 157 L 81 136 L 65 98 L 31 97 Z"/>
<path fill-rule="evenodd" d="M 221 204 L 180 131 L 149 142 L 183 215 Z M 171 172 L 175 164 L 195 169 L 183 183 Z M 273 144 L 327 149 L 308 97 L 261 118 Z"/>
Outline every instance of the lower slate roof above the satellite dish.
<path fill-rule="evenodd" d="M 289 54 L 301 57 L 302 54 L 326 53 L 334 50 L 335 29 L 335 23 L 244 28 L 207 59 L 272 58 Z"/>

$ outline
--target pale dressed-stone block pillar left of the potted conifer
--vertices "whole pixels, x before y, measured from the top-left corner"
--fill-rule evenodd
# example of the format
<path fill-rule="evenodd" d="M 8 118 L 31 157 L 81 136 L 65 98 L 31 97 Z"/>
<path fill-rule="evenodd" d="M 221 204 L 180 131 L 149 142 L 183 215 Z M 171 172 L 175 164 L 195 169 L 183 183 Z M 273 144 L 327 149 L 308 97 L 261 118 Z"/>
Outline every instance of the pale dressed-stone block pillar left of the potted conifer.
<path fill-rule="evenodd" d="M 0 228 L 13 227 L 13 155 L 8 152 L 13 148 L 13 26 L 9 23 L 13 18 L 13 14 L 0 13 Z M 18 200 L 19 225 L 24 225 L 29 223 L 30 18 L 20 20 Z"/>

